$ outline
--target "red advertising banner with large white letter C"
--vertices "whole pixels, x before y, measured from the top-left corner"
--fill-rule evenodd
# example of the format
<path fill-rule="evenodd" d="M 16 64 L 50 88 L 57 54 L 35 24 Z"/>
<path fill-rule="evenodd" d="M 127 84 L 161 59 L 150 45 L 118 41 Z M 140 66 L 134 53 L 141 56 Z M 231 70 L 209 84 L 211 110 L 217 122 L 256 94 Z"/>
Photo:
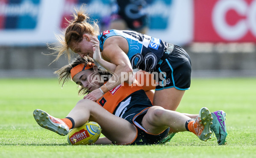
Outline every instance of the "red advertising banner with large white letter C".
<path fill-rule="evenodd" d="M 256 42 L 256 0 L 194 0 L 194 41 Z"/>

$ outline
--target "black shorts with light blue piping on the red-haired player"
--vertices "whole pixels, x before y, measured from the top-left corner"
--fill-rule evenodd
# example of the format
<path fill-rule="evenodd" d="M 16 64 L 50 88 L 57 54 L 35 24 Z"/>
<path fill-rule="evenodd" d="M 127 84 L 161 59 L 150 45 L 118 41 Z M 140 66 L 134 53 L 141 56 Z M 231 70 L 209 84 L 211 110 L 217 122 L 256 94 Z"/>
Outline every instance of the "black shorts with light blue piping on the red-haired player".
<path fill-rule="evenodd" d="M 156 91 L 165 88 L 188 90 L 191 83 L 191 60 L 186 51 L 174 45 L 174 50 L 155 70 Z M 157 78 L 158 77 L 158 78 Z"/>

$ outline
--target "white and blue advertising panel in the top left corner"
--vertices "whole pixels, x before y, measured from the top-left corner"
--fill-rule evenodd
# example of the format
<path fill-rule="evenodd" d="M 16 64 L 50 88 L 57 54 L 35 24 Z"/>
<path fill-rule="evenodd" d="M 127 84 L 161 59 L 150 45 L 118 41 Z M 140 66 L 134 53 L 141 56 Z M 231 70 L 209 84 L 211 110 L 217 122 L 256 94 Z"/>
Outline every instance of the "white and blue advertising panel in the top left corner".
<path fill-rule="evenodd" d="M 0 45 L 53 42 L 62 9 L 62 0 L 0 0 Z"/>

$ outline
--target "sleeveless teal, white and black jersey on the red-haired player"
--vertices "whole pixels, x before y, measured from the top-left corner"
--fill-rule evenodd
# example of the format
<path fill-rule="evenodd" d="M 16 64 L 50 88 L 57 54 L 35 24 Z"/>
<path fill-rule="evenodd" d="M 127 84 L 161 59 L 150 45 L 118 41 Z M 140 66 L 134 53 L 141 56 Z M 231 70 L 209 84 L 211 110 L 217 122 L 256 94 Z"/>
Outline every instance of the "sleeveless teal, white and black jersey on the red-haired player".
<path fill-rule="evenodd" d="M 168 43 L 159 38 L 153 38 L 135 31 L 111 29 L 98 35 L 101 50 L 104 49 L 105 40 L 114 35 L 122 36 L 127 40 L 129 44 L 127 56 L 133 69 L 138 68 L 153 72 L 168 48 Z"/>

